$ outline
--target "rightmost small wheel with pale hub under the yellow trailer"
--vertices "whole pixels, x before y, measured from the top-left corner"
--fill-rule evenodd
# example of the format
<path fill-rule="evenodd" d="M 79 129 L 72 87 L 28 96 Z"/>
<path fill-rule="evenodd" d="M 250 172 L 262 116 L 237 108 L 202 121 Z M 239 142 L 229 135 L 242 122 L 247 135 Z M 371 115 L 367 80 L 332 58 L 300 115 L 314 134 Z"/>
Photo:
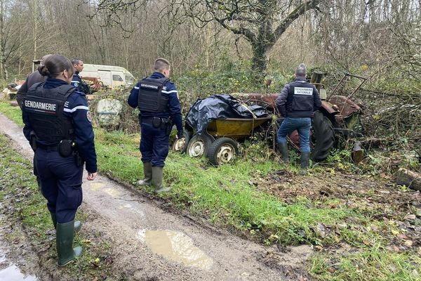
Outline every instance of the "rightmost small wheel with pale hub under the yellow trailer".
<path fill-rule="evenodd" d="M 208 151 L 208 159 L 215 166 L 232 162 L 239 154 L 239 145 L 232 138 L 218 138 Z"/>

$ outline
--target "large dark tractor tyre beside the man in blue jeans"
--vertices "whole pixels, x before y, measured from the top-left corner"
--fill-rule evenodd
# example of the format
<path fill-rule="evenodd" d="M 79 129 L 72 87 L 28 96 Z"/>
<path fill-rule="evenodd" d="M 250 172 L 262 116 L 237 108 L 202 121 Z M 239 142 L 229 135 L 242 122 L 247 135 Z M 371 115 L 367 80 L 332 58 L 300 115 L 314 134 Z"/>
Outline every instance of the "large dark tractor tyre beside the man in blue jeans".
<path fill-rule="evenodd" d="M 314 140 L 315 143 L 311 157 L 313 161 L 320 162 L 328 157 L 330 148 L 332 148 L 335 143 L 335 133 L 328 117 L 324 116 L 319 110 L 314 112 L 312 125 L 312 140 Z"/>

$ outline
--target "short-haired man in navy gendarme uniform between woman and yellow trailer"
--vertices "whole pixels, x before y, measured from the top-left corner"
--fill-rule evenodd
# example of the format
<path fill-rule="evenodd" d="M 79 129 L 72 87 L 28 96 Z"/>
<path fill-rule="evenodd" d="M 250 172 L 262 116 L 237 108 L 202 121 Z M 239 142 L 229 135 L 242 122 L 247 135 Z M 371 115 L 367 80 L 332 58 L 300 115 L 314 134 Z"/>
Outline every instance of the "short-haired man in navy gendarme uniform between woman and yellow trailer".
<path fill-rule="evenodd" d="M 163 186 L 163 166 L 168 155 L 169 135 L 173 123 L 177 137 L 182 138 L 182 117 L 178 92 L 170 77 L 170 63 L 158 58 L 154 73 L 140 80 L 128 96 L 128 105 L 138 107 L 140 123 L 140 152 L 145 178 L 140 185 L 153 185 L 155 192 L 167 192 Z"/>

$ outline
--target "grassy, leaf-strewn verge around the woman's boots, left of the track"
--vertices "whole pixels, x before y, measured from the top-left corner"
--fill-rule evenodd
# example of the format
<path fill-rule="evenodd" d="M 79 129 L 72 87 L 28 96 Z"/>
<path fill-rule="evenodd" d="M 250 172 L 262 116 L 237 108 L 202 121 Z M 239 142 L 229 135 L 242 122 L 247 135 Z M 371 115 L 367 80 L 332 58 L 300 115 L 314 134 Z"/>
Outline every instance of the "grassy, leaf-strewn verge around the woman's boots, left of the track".
<path fill-rule="evenodd" d="M 39 265 L 47 268 L 46 271 L 51 271 L 51 268 L 56 267 L 57 254 L 55 231 L 46 208 L 46 200 L 39 192 L 32 175 L 32 164 L 13 150 L 10 140 L 1 134 L 0 170 L 0 198 L 2 205 L 7 206 L 1 213 L 6 216 L 7 223 L 22 225 L 24 232 L 20 233 L 20 228 L 13 228 L 4 239 L 10 244 L 18 244 L 25 236 L 39 253 Z M 84 221 L 85 215 L 79 211 L 77 218 Z M 80 259 L 60 269 L 60 280 L 95 280 L 104 274 L 114 276 L 111 266 L 108 265 L 110 259 L 104 259 L 112 252 L 109 242 L 104 238 L 91 236 L 86 230 L 81 230 L 81 233 L 76 235 L 75 244 L 82 245 L 84 253 Z M 27 245 L 25 249 L 28 249 Z"/>

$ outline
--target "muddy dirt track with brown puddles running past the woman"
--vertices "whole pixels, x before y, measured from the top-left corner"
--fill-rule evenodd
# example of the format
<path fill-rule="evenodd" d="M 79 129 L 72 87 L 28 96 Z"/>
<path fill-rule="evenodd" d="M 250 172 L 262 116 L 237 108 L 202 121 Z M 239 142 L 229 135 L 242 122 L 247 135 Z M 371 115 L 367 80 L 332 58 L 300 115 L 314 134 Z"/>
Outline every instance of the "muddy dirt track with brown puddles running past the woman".
<path fill-rule="evenodd" d="M 0 133 L 32 159 L 22 129 L 1 114 Z M 82 231 L 104 233 L 112 241 L 113 271 L 124 280 L 307 280 L 308 246 L 283 254 L 276 247 L 200 226 L 104 176 L 83 181 L 81 210 L 88 214 Z M 262 259 L 268 252 L 276 261 Z M 56 273 L 49 276 L 63 280 Z"/>

